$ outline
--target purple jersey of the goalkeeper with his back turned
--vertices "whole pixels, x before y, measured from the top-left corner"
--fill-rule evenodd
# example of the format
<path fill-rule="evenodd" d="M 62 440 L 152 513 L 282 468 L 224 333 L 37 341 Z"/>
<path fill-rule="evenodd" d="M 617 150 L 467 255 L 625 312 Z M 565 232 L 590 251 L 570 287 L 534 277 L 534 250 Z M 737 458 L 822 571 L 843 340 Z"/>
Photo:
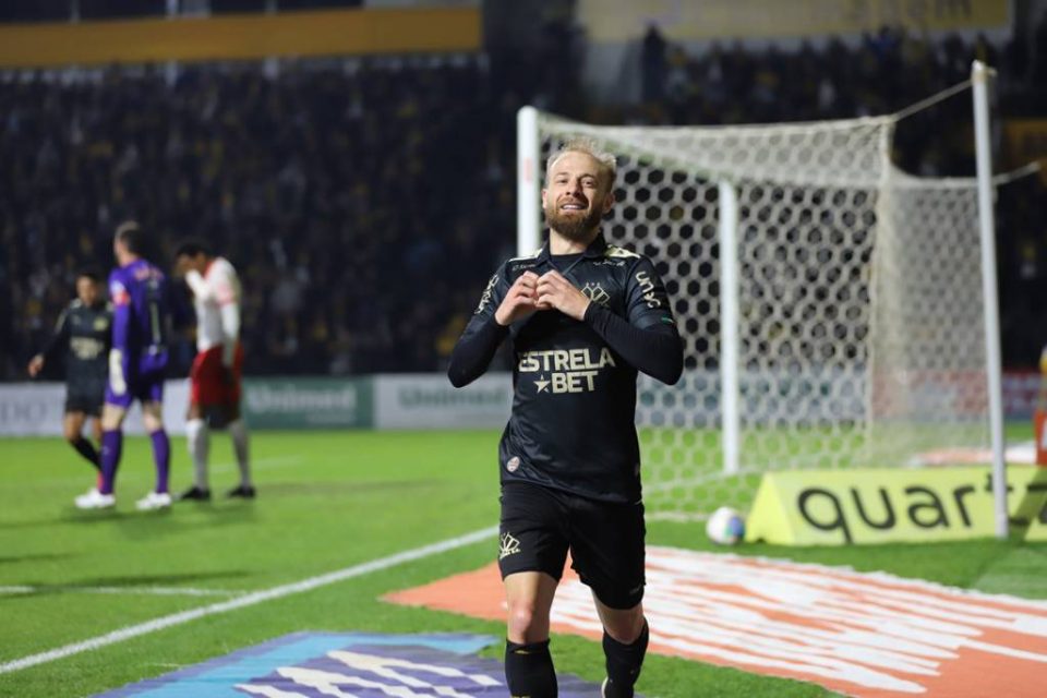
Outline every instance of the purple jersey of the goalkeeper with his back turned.
<path fill-rule="evenodd" d="M 112 349 L 119 352 L 121 377 L 133 395 L 142 381 L 163 381 L 167 368 L 171 312 L 167 277 L 147 261 L 135 260 L 109 275 L 109 296 L 113 306 Z M 115 368 L 110 364 L 110 373 Z M 115 385 L 112 377 L 110 387 Z"/>

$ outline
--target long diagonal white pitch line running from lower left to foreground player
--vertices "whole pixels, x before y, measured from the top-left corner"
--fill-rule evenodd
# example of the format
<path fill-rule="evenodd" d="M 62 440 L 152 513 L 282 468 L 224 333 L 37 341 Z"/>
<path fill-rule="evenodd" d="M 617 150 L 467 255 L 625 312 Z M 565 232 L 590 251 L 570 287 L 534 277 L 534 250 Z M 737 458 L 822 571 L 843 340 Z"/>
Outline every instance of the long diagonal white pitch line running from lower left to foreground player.
<path fill-rule="evenodd" d="M 164 628 L 181 625 L 182 623 L 189 623 L 190 621 L 203 618 L 208 615 L 225 613 L 227 611 L 236 611 L 237 609 L 244 609 L 256 603 L 262 603 L 263 601 L 280 599 L 291 594 L 301 593 L 303 591 L 312 591 L 313 589 L 332 585 L 336 581 L 360 577 L 372 571 L 388 569 L 389 567 L 395 567 L 402 563 L 413 562 L 416 559 L 429 557 L 430 555 L 443 553 L 456 547 L 464 547 L 465 545 L 470 545 L 484 539 L 493 538 L 497 534 L 497 532 L 498 527 L 492 526 L 479 531 L 473 531 L 472 533 L 459 535 L 458 538 L 450 538 L 431 545 L 423 545 L 422 547 L 416 547 L 414 550 L 396 553 L 395 555 L 389 555 L 388 557 L 380 557 L 378 559 L 372 559 L 368 563 L 361 563 L 359 565 L 353 565 L 352 567 L 346 567 L 345 569 L 330 571 L 326 575 L 310 577 L 309 579 L 303 579 L 302 581 L 281 585 L 279 587 L 273 587 L 272 589 L 254 591 L 236 599 L 230 599 L 229 601 L 213 603 L 209 606 L 202 606 L 200 609 L 191 609 L 189 611 L 182 611 L 181 613 L 165 615 L 153 621 L 140 623 L 139 625 L 131 625 L 125 628 L 120 628 L 119 630 L 107 633 L 106 635 L 99 635 L 98 637 L 91 638 L 89 640 L 73 642 L 64 647 L 59 647 L 58 649 L 48 650 L 47 652 L 31 654 L 29 657 L 23 657 L 22 659 L 16 659 L 12 662 L 5 662 L 0 664 L 0 674 L 16 672 L 21 669 L 36 666 L 37 664 L 46 664 L 47 662 L 64 659 L 73 654 L 79 654 L 80 652 L 86 652 L 87 650 L 95 650 L 100 647 L 106 647 L 107 645 L 122 642 L 123 640 L 139 637 L 140 635 L 155 633 L 156 630 L 163 630 Z"/>

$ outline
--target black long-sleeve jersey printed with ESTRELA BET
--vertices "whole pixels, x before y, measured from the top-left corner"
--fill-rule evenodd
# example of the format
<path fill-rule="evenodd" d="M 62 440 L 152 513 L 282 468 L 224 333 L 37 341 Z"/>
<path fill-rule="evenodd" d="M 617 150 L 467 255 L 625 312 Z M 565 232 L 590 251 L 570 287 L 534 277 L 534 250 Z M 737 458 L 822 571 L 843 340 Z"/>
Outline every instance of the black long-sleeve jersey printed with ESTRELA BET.
<path fill-rule="evenodd" d="M 592 301 L 579 322 L 557 310 L 508 328 L 494 313 L 525 272 L 557 269 Z M 683 346 L 665 287 L 647 257 L 599 236 L 580 254 L 508 260 L 491 277 L 452 353 L 461 387 L 491 363 L 508 335 L 513 413 L 498 447 L 502 482 L 525 481 L 609 502 L 641 498 L 636 376 L 679 380 Z"/>

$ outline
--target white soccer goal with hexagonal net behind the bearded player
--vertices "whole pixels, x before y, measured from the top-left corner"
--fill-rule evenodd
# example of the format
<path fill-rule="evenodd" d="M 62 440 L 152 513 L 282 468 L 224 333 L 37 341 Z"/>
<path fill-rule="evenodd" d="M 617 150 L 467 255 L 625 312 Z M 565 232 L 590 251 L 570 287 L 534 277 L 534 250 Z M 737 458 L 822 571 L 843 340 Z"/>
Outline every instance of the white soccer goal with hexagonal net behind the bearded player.
<path fill-rule="evenodd" d="M 637 408 L 651 515 L 747 508 L 772 469 L 989 447 L 999 339 L 977 180 L 896 169 L 899 118 L 650 128 L 520 111 L 521 254 L 542 242 L 545 157 L 589 136 L 618 155 L 609 241 L 654 260 L 674 301 L 684 377 L 641 376 Z"/>

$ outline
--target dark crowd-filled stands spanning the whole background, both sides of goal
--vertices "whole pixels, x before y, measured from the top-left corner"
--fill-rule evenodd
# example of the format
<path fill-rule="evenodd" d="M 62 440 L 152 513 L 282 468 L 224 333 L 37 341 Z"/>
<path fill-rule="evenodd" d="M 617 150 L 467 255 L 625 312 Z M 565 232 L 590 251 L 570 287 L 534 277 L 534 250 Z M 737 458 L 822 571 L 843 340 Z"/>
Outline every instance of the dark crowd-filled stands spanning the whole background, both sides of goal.
<path fill-rule="evenodd" d="M 215 12 L 267 4 L 212 0 Z M 594 123 L 850 118 L 960 83 L 979 58 L 999 71 L 996 119 L 1047 117 L 1047 19 L 1030 41 L 1006 45 L 884 28 L 857 44 L 727 44 L 691 55 L 652 32 L 637 47 L 642 98 L 606 106 L 581 86 L 586 38 L 564 11 L 570 3 L 539 4 L 547 11 L 533 19 L 526 50 L 489 40 L 469 56 L 281 60 L 276 74 L 263 62 L 8 74 L 0 380 L 25 380 L 76 270 L 112 266 L 112 230 L 128 217 L 158 233 L 161 265 L 184 236 L 210 240 L 237 265 L 248 373 L 441 370 L 485 279 L 515 250 L 515 115 L 526 104 Z M 80 0 L 79 12 L 111 19 L 166 7 Z M 69 0 L 3 2 L 0 21 L 69 11 Z M 973 174 L 966 95 L 900 124 L 904 169 Z M 1047 341 L 1042 181 L 1001 189 L 998 212 L 1004 364 L 1030 368 Z M 192 352 L 180 334 L 176 373 Z"/>

